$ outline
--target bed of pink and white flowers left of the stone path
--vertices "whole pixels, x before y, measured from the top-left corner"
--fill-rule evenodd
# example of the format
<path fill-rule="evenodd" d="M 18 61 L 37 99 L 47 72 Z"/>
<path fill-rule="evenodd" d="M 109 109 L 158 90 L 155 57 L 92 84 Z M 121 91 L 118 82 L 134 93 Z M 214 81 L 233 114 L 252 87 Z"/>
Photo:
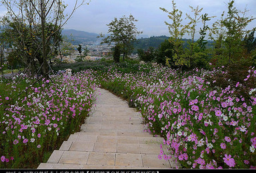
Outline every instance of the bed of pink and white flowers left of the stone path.
<path fill-rule="evenodd" d="M 60 138 L 65 138 L 73 128 L 81 125 L 91 109 L 95 90 L 92 71 L 72 77 L 52 76 L 51 79 L 53 83 L 43 80 L 41 85 L 28 88 L 29 79 L 18 77 L 6 85 L 7 90 L 0 97 L 3 102 L 0 139 L 6 142 L 0 148 L 0 154 L 1 161 L 6 164 L 0 164 L 0 168 L 11 168 L 7 157 L 11 156 L 8 161 L 20 162 L 17 157 L 25 152 L 37 157 L 38 153 L 55 146 Z M 27 92 L 23 92 L 25 88 Z"/>

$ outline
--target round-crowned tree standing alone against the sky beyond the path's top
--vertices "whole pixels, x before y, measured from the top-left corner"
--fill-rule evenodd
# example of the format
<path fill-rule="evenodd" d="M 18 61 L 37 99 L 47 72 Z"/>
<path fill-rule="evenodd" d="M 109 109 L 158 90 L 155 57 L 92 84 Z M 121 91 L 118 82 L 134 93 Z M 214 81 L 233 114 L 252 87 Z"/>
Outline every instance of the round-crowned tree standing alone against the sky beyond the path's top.
<path fill-rule="evenodd" d="M 125 55 L 128 55 L 133 50 L 133 41 L 136 40 L 137 35 L 141 34 L 141 31 L 137 30 L 135 26 L 135 22 L 137 20 L 133 15 L 129 15 L 129 17 L 121 17 L 120 19 L 115 18 L 111 23 L 107 24 L 109 27 L 108 35 L 105 37 L 102 33 L 99 37 L 105 37 L 101 44 L 107 43 L 111 45 L 111 43 L 115 43 L 115 47 L 119 47 L 123 53 L 123 61 L 125 59 Z"/>

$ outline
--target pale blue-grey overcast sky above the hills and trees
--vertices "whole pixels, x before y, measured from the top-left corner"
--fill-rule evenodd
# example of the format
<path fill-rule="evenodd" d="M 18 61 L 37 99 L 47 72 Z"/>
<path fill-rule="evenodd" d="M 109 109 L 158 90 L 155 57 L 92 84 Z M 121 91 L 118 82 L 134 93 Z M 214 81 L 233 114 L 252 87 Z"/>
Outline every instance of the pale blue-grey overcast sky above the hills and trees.
<path fill-rule="evenodd" d="M 64 0 L 64 2 L 68 4 L 65 11 L 71 11 L 75 0 Z M 189 5 L 192 7 L 199 5 L 199 7 L 203 7 L 202 14 L 208 13 L 209 16 L 217 16 L 208 23 L 209 26 L 219 19 L 223 11 L 227 11 L 228 2 L 229 0 L 175 0 L 177 9 L 183 12 L 183 19 L 185 19 L 185 13 L 191 14 Z M 143 31 L 143 35 L 166 35 L 169 37 L 169 31 L 164 22 L 171 23 L 171 21 L 167 17 L 167 13 L 161 11 L 159 7 L 171 11 L 171 0 L 91 0 L 89 5 L 83 5 L 75 11 L 64 29 L 107 33 L 107 24 L 115 17 L 120 18 L 123 15 L 128 17 L 131 14 L 138 20 L 135 25 L 139 31 Z M 235 7 L 240 10 L 247 7 L 248 15 L 256 17 L 256 0 L 235 0 Z M 0 15 L 3 13 L 5 13 L 5 9 L 1 7 Z M 183 22 L 185 24 L 187 21 L 183 20 Z M 253 27 L 256 27 L 256 20 L 249 25 L 248 29 Z"/>

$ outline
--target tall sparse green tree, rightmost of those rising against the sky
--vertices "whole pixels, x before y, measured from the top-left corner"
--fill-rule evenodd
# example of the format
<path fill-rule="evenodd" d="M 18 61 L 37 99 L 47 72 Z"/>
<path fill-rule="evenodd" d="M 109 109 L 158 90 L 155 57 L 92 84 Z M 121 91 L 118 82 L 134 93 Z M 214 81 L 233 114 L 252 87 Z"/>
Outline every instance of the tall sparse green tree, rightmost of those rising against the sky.
<path fill-rule="evenodd" d="M 219 61 L 224 65 L 237 63 L 243 58 L 243 39 L 252 31 L 247 30 L 247 25 L 255 19 L 252 16 L 247 16 L 247 9 L 240 11 L 234 4 L 234 0 L 229 1 L 227 15 L 224 18 L 225 12 L 223 12 L 221 20 L 217 21 L 212 29 L 213 33 L 219 33 L 215 48 L 222 48 L 223 56 Z M 219 32 L 221 31 L 220 27 L 224 32 Z"/>

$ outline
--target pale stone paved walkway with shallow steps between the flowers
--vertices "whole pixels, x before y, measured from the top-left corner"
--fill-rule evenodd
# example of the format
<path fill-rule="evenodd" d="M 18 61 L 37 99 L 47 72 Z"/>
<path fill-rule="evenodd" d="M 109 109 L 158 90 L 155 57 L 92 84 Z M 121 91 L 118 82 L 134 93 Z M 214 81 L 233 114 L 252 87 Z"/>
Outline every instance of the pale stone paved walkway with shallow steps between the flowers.
<path fill-rule="evenodd" d="M 158 159 L 163 138 L 145 132 L 139 112 L 107 90 L 97 88 L 96 94 L 96 106 L 81 131 L 71 134 L 38 168 L 173 167 L 170 160 Z"/>

